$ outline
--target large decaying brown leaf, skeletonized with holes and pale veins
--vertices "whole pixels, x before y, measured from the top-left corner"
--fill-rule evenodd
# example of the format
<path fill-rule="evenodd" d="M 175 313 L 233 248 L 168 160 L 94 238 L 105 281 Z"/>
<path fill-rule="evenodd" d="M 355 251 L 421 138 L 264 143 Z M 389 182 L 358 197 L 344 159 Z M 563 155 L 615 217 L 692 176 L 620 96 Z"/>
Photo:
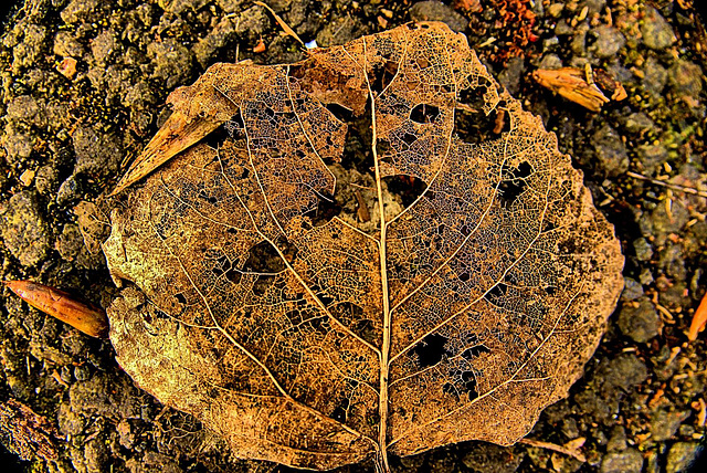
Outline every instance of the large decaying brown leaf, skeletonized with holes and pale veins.
<path fill-rule="evenodd" d="M 581 376 L 623 285 L 619 242 L 463 35 L 423 23 L 218 64 L 170 102 L 104 245 L 125 285 L 110 338 L 236 455 L 387 470 L 511 444 Z"/>

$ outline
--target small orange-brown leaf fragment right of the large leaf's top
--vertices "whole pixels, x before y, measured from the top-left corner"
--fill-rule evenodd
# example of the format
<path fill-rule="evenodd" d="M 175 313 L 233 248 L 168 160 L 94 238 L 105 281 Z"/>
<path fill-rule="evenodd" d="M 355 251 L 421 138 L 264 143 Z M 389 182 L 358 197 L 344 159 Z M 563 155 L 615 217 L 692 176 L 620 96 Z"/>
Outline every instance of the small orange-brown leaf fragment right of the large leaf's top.
<path fill-rule="evenodd" d="M 532 73 L 538 84 L 592 112 L 609 102 L 627 97 L 625 88 L 602 69 L 539 69 Z"/>

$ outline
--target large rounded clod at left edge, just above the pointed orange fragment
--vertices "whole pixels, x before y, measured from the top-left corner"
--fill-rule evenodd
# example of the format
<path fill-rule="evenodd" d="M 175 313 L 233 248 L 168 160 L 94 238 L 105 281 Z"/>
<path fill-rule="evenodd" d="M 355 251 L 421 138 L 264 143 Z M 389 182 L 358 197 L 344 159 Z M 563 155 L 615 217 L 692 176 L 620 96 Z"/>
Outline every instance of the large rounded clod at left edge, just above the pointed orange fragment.
<path fill-rule="evenodd" d="M 24 190 L 0 204 L 0 233 L 6 248 L 23 266 L 35 266 L 50 250 L 50 231 L 36 195 Z"/>

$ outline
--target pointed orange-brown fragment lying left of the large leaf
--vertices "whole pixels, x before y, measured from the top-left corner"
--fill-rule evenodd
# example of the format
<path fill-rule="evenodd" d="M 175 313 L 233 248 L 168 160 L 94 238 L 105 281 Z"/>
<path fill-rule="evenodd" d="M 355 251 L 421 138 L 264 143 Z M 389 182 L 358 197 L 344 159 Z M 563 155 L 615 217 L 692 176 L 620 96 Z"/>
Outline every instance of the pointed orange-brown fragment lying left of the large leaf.
<path fill-rule="evenodd" d="M 92 337 L 108 336 L 106 314 L 64 291 L 32 281 L 4 281 L 4 285 L 24 302 Z"/>

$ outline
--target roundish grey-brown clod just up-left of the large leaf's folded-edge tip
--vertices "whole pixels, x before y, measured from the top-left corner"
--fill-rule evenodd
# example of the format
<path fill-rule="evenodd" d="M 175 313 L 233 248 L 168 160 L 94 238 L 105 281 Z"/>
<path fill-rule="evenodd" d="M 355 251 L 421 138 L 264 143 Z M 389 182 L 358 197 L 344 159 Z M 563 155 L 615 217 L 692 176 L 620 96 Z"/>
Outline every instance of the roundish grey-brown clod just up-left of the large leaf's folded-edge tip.
<path fill-rule="evenodd" d="M 123 161 L 123 146 L 115 135 L 106 135 L 89 126 L 80 126 L 72 137 L 76 154 L 75 174 L 92 178 L 114 175 Z"/>

